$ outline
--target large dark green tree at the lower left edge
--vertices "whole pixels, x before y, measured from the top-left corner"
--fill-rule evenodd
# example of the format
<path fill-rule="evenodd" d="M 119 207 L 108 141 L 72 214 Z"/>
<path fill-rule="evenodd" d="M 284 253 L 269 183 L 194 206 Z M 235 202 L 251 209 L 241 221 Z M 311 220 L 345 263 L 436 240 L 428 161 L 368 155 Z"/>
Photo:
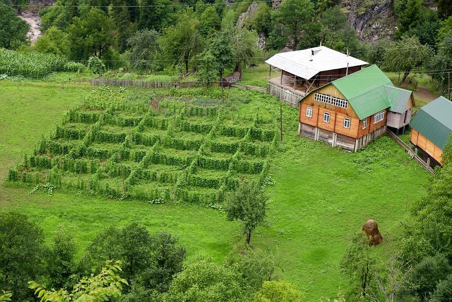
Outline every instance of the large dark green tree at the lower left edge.
<path fill-rule="evenodd" d="M 13 293 L 14 301 L 31 298 L 27 282 L 41 272 L 44 234 L 27 216 L 0 213 L 0 288 Z"/>

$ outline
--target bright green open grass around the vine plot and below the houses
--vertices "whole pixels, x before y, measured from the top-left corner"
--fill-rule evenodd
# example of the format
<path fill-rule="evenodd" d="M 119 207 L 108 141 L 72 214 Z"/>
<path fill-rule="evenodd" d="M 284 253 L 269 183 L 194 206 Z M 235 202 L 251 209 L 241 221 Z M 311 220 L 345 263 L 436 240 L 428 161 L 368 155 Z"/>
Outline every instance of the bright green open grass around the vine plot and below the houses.
<path fill-rule="evenodd" d="M 79 104 L 80 94 L 85 95 L 88 88 L 0 81 L 0 110 L 5 113 L 0 117 L 2 177 L 22 152 L 33 150 L 41 134 L 54 128 L 68 107 Z M 367 219 L 378 221 L 384 237 L 373 252 L 382 257 L 391 252 L 400 222 L 424 193 L 422 184 L 429 174 L 387 137 L 358 153 L 299 138 L 297 115 L 296 109 L 283 106 L 284 140 L 272 159 L 275 183 L 266 189 L 269 225 L 258 228 L 251 243 L 274 254 L 280 262 L 279 275 L 305 290 L 308 301 L 317 301 L 347 287 L 339 262 L 349 237 L 361 231 Z M 221 262 L 245 242 L 239 224 L 226 222 L 219 211 L 201 206 L 121 202 L 58 190 L 51 197 L 29 192 L 30 188 L 1 186 L 0 207 L 29 215 L 47 236 L 60 223 L 73 224 L 78 256 L 99 229 L 134 220 L 152 232 L 167 229 L 180 236 L 189 261 L 203 254 Z"/>

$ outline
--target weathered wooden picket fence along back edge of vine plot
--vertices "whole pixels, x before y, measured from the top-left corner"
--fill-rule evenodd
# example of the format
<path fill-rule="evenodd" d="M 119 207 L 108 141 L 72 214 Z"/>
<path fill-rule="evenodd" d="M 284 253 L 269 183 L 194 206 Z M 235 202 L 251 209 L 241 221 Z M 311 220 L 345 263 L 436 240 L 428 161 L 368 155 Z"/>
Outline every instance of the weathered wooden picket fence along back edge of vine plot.
<path fill-rule="evenodd" d="M 123 86 L 123 87 L 138 87 L 138 88 L 191 88 L 199 87 L 202 85 L 196 81 L 138 81 L 128 79 L 106 79 L 106 78 L 93 78 L 91 79 L 91 85 L 101 86 Z"/>

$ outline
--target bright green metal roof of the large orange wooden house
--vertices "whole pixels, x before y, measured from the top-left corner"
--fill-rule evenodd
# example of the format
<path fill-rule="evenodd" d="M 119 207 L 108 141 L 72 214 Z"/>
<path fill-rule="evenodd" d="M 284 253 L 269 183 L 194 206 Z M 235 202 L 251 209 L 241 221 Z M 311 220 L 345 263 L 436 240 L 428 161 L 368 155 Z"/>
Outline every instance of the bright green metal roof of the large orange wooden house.
<path fill-rule="evenodd" d="M 345 96 L 360 120 L 391 106 L 384 86 L 392 86 L 392 82 L 377 65 L 361 69 L 328 84 L 334 85 Z M 306 96 L 317 89 L 310 91 Z M 299 102 L 302 100 L 303 98 Z"/>

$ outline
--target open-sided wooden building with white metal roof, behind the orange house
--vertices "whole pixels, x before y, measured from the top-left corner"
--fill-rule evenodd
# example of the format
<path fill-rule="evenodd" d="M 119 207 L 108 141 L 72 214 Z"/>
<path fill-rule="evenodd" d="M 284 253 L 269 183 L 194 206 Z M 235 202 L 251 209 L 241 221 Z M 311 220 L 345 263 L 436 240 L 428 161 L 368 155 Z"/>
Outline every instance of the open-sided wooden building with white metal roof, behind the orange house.
<path fill-rule="evenodd" d="M 368 64 L 325 46 L 277 53 L 265 62 L 270 64 L 270 94 L 293 107 L 309 91 Z M 280 76 L 271 78 L 273 67 L 281 70 Z"/>

